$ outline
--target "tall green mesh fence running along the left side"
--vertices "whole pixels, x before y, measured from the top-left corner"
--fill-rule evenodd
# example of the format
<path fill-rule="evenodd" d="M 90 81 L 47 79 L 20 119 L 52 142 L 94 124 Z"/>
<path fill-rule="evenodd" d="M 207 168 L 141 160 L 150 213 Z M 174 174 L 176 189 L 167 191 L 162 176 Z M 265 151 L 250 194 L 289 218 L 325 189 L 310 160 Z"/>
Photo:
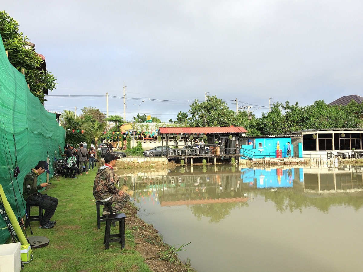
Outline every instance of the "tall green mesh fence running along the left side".
<path fill-rule="evenodd" d="M 65 130 L 57 123 L 56 115 L 47 112 L 39 99 L 29 91 L 24 75 L 9 63 L 2 42 L 0 94 L 0 184 L 15 216 L 23 217 L 24 177 L 38 161 L 46 161 L 48 154 L 50 177 L 53 176 L 54 158 L 60 157 L 60 147 L 63 150 Z M 17 178 L 13 176 L 16 161 L 20 168 Z M 46 175 L 42 174 L 38 184 L 45 181 Z M 4 244 L 8 238 L 7 226 L 0 217 L 0 244 Z"/>

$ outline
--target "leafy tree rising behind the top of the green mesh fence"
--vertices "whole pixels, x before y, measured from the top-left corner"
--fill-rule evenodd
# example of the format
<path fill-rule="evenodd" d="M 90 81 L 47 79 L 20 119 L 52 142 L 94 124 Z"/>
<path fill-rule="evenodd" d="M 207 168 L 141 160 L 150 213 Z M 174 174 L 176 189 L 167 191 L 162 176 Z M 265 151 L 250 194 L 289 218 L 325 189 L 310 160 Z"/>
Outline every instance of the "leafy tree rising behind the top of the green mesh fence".
<path fill-rule="evenodd" d="M 19 23 L 5 11 L 0 11 L 0 33 L 9 62 L 20 72 L 24 69 L 30 92 L 44 103 L 44 92 L 56 87 L 56 78 L 41 68 L 41 57 L 33 51 L 34 47 L 29 47 L 26 42 L 29 39 L 23 37 L 22 32 L 19 33 Z"/>

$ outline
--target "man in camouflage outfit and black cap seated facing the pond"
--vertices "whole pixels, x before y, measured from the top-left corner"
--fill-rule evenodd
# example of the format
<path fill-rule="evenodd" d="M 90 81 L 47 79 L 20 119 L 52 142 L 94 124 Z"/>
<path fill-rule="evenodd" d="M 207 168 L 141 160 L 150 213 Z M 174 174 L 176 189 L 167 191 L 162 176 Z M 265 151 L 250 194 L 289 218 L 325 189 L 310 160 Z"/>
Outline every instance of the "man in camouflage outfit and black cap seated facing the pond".
<path fill-rule="evenodd" d="M 93 185 L 93 195 L 96 200 L 104 203 L 115 202 L 115 206 L 112 209 L 113 213 L 121 211 L 130 200 L 129 194 L 115 186 L 115 182 L 118 182 L 118 176 L 113 172 L 113 168 L 116 165 L 116 160 L 119 158 L 112 153 L 106 154 L 105 165 L 98 169 Z M 102 215 L 106 214 L 110 214 L 110 211 L 105 206 Z"/>

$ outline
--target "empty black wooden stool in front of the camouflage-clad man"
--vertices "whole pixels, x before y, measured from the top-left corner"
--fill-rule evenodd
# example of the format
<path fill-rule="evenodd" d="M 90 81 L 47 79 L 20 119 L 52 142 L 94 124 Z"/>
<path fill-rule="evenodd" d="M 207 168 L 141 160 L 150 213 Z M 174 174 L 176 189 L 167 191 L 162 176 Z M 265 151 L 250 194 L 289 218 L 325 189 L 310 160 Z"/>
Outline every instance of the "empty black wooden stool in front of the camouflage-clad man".
<path fill-rule="evenodd" d="M 106 228 L 105 228 L 105 238 L 103 239 L 103 244 L 105 245 L 105 250 L 109 248 L 110 242 L 120 242 L 121 249 L 125 247 L 125 214 L 107 214 L 106 215 Z M 119 231 L 117 234 L 110 234 L 111 232 L 111 222 L 119 222 Z M 117 238 L 114 238 L 117 237 Z"/>

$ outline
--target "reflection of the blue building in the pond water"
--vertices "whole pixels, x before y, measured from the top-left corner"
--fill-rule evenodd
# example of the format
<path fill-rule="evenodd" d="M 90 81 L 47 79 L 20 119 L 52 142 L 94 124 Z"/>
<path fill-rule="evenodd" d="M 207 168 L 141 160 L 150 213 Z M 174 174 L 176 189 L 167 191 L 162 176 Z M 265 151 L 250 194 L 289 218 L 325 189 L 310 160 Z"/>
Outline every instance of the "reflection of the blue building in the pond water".
<path fill-rule="evenodd" d="M 301 169 L 302 170 L 302 169 Z M 295 178 L 294 169 L 241 169 L 243 182 L 256 184 L 257 188 L 292 187 Z"/>

